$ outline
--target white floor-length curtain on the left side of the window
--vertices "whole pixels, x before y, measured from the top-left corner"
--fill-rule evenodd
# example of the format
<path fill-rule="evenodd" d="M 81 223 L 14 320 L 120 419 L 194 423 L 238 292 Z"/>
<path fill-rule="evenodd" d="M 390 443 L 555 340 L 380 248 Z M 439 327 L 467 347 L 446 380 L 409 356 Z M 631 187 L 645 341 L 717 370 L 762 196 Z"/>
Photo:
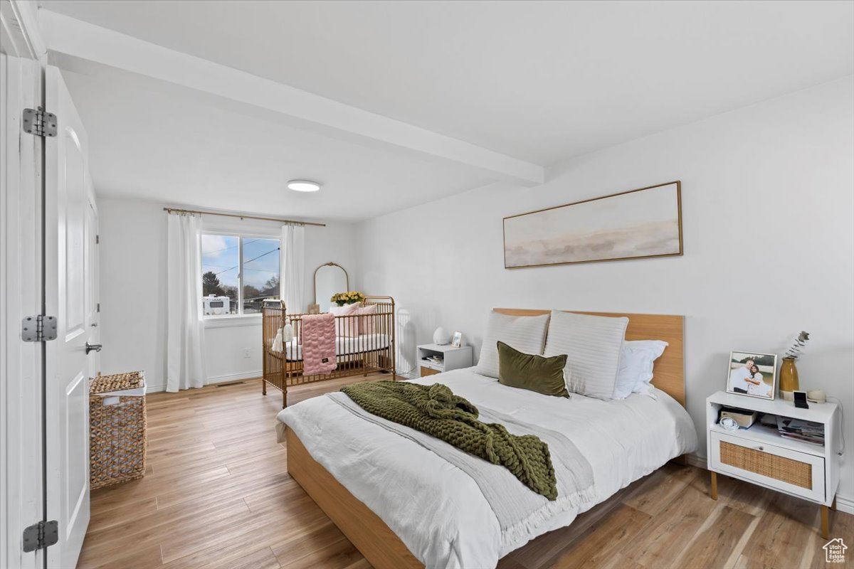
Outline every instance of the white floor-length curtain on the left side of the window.
<path fill-rule="evenodd" d="M 205 385 L 202 218 L 167 216 L 167 392 Z"/>

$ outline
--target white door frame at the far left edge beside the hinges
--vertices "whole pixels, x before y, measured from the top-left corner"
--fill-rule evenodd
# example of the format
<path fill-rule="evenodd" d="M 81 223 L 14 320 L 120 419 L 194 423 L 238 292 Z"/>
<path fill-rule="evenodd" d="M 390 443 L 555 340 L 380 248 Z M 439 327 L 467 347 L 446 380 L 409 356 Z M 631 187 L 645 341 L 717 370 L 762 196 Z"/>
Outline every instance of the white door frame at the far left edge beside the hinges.
<path fill-rule="evenodd" d="M 0 15 L 0 49 L 15 26 Z M 21 321 L 42 312 L 42 138 L 23 131 L 25 108 L 42 102 L 38 61 L 0 52 L 0 567 L 44 566 L 25 553 L 23 531 L 42 520 L 41 342 L 21 340 Z"/>

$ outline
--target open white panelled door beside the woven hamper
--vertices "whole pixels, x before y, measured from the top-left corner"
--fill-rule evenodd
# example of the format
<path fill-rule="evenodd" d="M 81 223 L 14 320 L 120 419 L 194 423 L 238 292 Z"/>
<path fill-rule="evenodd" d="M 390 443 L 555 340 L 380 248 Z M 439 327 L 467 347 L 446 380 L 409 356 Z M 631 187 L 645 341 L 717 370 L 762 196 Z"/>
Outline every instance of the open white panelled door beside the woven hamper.
<path fill-rule="evenodd" d="M 91 182 L 86 134 L 53 66 L 45 70 L 44 102 L 57 117 L 57 134 L 45 139 L 44 157 L 44 304 L 57 323 L 56 340 L 45 343 L 45 485 L 47 519 L 59 522 L 59 543 L 47 549 L 47 566 L 64 568 L 77 564 L 89 524 Z"/>

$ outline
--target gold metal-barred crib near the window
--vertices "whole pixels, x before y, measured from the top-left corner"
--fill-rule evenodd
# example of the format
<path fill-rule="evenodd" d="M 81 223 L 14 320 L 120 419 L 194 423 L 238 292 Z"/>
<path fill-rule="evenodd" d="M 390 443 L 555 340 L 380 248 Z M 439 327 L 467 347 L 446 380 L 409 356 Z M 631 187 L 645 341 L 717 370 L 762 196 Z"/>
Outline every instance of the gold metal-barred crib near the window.
<path fill-rule="evenodd" d="M 261 393 L 267 386 L 282 392 L 282 408 L 288 406 L 288 387 L 315 381 L 374 372 L 390 374 L 395 380 L 395 299 L 390 296 L 368 296 L 364 307 L 375 307 L 372 314 L 336 316 L 337 368 L 330 374 L 303 374 L 301 336 L 302 316 L 287 311 L 284 301 L 265 300 L 261 308 Z M 290 322 L 294 339 L 274 350 L 274 340 L 285 322 Z M 369 334 L 358 330 L 368 329 Z"/>

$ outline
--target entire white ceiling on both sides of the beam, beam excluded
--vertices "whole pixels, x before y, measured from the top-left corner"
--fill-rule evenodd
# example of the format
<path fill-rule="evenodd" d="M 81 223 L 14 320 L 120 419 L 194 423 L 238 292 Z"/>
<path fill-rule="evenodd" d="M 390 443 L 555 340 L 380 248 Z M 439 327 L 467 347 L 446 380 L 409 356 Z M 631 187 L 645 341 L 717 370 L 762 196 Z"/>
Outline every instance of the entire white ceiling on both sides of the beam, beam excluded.
<path fill-rule="evenodd" d="M 535 168 L 854 73 L 854 2 L 41 4 Z M 99 195 L 355 221 L 500 179 L 62 53 Z"/>

